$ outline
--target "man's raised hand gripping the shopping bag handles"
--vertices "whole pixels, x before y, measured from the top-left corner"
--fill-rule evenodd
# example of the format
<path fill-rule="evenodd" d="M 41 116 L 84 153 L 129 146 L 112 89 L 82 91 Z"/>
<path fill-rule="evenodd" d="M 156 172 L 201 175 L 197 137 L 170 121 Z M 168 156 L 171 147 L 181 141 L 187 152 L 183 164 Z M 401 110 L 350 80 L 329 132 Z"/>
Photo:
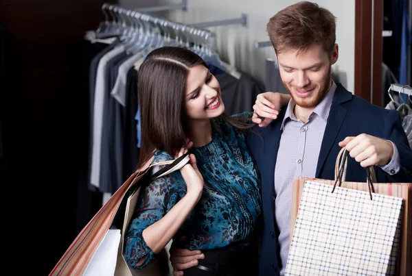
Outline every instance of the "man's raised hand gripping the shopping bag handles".
<path fill-rule="evenodd" d="M 356 137 L 346 137 L 339 142 L 340 147 L 346 147 L 350 156 L 361 163 L 363 168 L 368 166 L 385 166 L 393 156 L 392 143 L 367 134 Z"/>

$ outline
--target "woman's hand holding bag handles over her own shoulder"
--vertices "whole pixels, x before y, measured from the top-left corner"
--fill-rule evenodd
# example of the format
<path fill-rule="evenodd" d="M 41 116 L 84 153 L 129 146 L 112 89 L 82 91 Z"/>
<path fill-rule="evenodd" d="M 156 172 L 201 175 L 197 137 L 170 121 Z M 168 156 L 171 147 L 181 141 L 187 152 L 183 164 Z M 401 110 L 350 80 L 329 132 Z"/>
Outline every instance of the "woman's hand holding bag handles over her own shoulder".
<path fill-rule="evenodd" d="M 181 155 L 187 153 L 192 145 L 193 142 L 189 142 L 187 148 L 181 148 L 179 153 L 175 155 L 175 158 L 179 158 Z M 187 195 L 195 195 L 200 199 L 203 191 L 203 176 L 198 170 L 194 155 L 190 154 L 189 157 L 190 162 L 183 166 L 180 171 L 187 186 Z"/>

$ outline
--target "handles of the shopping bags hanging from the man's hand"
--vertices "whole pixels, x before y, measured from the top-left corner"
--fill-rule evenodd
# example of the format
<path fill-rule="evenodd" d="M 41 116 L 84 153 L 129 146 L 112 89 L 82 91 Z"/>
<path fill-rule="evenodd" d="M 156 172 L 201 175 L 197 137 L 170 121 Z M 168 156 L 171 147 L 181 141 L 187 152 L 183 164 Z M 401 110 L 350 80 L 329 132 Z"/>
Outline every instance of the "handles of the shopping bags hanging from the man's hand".
<path fill-rule="evenodd" d="M 346 170 L 347 170 L 347 155 L 349 152 L 346 150 L 345 147 L 339 151 L 338 157 L 336 158 L 335 163 L 335 173 L 334 173 L 334 186 L 332 192 L 334 192 L 336 188 L 336 184 L 339 182 L 339 187 L 341 187 L 342 182 L 345 181 L 346 178 Z M 369 195 L 372 200 L 372 192 L 375 192 L 374 182 L 376 182 L 376 174 L 374 170 L 374 166 L 368 166 L 366 168 L 366 182 L 367 186 L 369 187 Z"/>

